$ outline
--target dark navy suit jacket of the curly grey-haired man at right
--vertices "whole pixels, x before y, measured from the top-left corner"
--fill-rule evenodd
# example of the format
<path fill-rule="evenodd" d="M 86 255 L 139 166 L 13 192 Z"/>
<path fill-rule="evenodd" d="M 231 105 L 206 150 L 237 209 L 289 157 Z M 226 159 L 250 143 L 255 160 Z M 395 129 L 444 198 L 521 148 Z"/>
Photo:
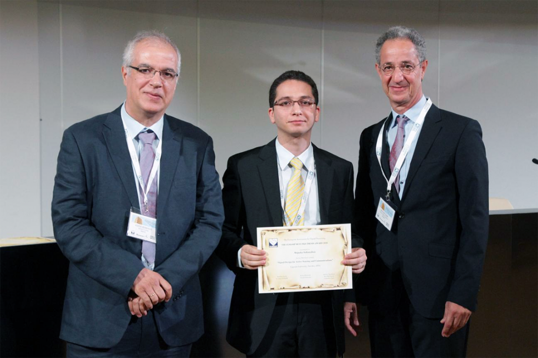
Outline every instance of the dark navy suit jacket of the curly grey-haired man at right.
<path fill-rule="evenodd" d="M 489 222 L 487 161 L 477 121 L 431 106 L 424 120 L 402 199 L 392 188 L 397 217 L 388 231 L 374 217 L 387 182 L 376 157 L 379 130 L 360 136 L 356 226 L 368 265 L 359 276 L 360 301 L 390 314 L 405 289 L 424 317 L 441 318 L 446 301 L 476 309 Z M 385 144 L 381 163 L 390 177 Z M 402 287 L 403 283 L 403 287 Z"/>

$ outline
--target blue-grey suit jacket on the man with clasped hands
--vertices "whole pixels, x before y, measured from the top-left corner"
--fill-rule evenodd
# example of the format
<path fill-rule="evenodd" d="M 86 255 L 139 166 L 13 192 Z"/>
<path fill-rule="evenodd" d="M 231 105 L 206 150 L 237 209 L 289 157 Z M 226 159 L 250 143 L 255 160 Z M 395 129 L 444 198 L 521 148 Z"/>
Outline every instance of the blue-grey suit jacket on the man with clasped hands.
<path fill-rule="evenodd" d="M 140 270 L 141 240 L 126 236 L 139 208 L 121 107 L 63 134 L 54 182 L 54 236 L 69 259 L 60 338 L 112 347 L 131 319 L 127 304 Z M 203 333 L 198 272 L 221 237 L 221 186 L 211 138 L 165 115 L 162 130 L 155 272 L 172 297 L 153 309 L 162 338 L 179 346 Z"/>

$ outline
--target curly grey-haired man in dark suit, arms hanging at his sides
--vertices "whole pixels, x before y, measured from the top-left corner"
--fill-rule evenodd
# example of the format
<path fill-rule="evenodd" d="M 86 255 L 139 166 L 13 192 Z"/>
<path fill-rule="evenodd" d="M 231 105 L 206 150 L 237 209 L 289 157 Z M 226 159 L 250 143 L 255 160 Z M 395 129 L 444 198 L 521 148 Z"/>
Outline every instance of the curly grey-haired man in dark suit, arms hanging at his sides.
<path fill-rule="evenodd" d="M 423 96 L 415 30 L 390 28 L 376 57 L 392 111 L 360 136 L 355 194 L 372 356 L 464 357 L 489 220 L 482 130 Z"/>

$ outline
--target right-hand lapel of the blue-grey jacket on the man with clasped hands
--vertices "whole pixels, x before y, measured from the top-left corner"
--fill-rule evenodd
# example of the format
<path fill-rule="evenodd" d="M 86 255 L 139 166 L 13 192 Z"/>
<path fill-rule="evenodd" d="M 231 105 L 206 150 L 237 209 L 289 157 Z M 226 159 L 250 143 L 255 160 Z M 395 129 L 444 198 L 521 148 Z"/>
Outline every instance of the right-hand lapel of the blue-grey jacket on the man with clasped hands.
<path fill-rule="evenodd" d="M 172 182 L 183 151 L 183 136 L 172 127 L 173 123 L 165 114 L 162 126 L 162 156 L 159 166 L 159 196 L 157 199 L 157 217 L 164 214 L 166 198 L 170 195 Z M 159 200 L 160 198 L 160 200 Z"/>

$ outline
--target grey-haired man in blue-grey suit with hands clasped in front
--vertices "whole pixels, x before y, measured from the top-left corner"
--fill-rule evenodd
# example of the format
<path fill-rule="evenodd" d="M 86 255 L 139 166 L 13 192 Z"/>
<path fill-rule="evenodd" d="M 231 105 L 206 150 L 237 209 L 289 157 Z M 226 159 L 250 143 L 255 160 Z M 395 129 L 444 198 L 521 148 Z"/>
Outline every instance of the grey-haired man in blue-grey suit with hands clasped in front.
<path fill-rule="evenodd" d="M 165 34 L 138 33 L 125 103 L 63 134 L 52 219 L 69 259 L 68 357 L 188 358 L 203 334 L 198 272 L 224 215 L 213 141 L 165 114 L 179 69 Z"/>

